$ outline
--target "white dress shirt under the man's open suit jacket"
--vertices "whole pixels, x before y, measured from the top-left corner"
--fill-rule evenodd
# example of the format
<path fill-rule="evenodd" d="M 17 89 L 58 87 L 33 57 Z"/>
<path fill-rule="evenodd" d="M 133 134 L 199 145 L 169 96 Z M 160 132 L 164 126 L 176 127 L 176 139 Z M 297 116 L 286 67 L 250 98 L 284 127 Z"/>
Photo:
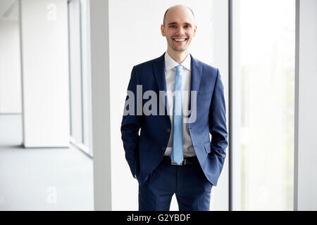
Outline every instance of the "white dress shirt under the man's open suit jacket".
<path fill-rule="evenodd" d="M 178 64 L 173 58 L 171 58 L 168 53 L 165 53 L 165 76 L 166 76 L 166 91 L 168 98 L 168 110 L 170 113 L 170 122 L 172 127 L 170 129 L 170 139 L 168 141 L 168 146 L 164 155 L 170 156 L 172 153 L 173 147 L 173 105 L 174 98 L 173 92 L 175 90 L 175 75 L 177 65 L 182 65 L 182 150 L 184 154 L 184 158 L 192 157 L 196 155 L 194 148 L 192 146 L 192 139 L 189 134 L 188 123 L 185 120 L 185 117 L 188 115 L 188 107 L 189 107 L 189 93 L 190 93 L 190 76 L 191 76 L 191 68 L 190 68 L 190 56 L 189 54 L 182 61 L 182 63 Z"/>

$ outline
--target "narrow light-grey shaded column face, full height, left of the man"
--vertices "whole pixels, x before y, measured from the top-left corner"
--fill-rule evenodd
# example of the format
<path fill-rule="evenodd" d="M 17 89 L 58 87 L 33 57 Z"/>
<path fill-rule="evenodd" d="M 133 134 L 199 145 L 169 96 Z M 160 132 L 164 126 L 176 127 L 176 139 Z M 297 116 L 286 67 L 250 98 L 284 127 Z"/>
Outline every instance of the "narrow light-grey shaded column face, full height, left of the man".
<path fill-rule="evenodd" d="M 94 210 L 111 210 L 108 1 L 90 1 L 89 14 Z"/>

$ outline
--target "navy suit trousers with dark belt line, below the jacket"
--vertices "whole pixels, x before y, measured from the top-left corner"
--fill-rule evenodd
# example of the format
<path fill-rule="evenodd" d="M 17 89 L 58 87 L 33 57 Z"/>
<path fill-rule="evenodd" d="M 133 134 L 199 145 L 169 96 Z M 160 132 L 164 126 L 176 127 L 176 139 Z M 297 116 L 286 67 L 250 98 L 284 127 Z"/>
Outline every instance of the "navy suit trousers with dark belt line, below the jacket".
<path fill-rule="evenodd" d="M 175 193 L 180 211 L 209 211 L 212 184 L 199 163 L 160 164 L 139 184 L 139 211 L 168 211 Z"/>

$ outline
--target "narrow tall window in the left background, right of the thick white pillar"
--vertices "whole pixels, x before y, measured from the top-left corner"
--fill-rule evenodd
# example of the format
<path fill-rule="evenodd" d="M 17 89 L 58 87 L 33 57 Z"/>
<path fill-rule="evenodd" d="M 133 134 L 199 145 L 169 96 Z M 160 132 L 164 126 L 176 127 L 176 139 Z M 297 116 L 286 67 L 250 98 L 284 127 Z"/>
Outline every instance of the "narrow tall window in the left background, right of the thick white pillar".
<path fill-rule="evenodd" d="M 68 1 L 71 142 L 92 155 L 87 0 Z"/>

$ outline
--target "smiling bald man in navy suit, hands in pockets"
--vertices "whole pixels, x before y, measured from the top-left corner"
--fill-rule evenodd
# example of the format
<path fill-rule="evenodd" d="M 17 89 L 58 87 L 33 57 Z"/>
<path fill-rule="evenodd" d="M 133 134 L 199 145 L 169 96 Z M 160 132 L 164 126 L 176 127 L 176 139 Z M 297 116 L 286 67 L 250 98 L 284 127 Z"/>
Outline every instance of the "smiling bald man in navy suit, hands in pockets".
<path fill-rule="evenodd" d="M 169 210 L 174 193 L 179 210 L 209 210 L 211 187 L 223 168 L 223 84 L 218 69 L 189 54 L 196 32 L 191 9 L 168 8 L 161 25 L 166 53 L 132 69 L 121 134 L 139 181 L 139 210 Z"/>

